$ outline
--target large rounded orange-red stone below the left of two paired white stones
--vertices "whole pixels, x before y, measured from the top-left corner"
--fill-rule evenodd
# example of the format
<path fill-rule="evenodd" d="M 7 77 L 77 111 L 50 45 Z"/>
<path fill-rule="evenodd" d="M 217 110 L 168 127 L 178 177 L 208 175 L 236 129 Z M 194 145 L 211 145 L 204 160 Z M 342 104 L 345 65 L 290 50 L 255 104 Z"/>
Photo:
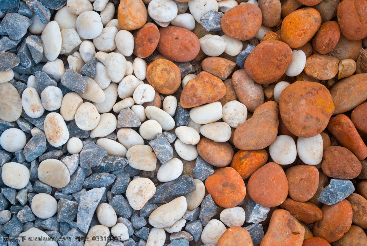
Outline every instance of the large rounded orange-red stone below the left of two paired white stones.
<path fill-rule="evenodd" d="M 288 195 L 286 174 L 279 164 L 269 162 L 251 175 L 247 192 L 252 200 L 262 206 L 279 206 Z"/>

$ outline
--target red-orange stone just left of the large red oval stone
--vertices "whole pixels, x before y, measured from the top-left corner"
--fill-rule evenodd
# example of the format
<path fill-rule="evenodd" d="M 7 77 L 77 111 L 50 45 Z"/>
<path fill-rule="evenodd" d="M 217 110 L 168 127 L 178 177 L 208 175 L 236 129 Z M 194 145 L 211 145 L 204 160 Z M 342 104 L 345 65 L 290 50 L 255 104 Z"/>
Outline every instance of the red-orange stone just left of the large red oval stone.
<path fill-rule="evenodd" d="M 150 56 L 156 49 L 159 42 L 159 30 L 152 22 L 145 25 L 132 33 L 134 36 L 134 51 L 132 54 L 145 58 Z"/>

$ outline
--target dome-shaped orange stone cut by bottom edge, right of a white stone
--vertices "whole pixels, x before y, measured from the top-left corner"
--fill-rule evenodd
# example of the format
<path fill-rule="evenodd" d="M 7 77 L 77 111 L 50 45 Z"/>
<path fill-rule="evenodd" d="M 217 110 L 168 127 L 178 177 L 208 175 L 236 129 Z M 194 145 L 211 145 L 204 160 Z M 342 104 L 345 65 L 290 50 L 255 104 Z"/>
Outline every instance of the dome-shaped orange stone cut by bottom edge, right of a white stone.
<path fill-rule="evenodd" d="M 253 246 L 250 233 L 240 226 L 229 227 L 218 239 L 216 246 Z"/>

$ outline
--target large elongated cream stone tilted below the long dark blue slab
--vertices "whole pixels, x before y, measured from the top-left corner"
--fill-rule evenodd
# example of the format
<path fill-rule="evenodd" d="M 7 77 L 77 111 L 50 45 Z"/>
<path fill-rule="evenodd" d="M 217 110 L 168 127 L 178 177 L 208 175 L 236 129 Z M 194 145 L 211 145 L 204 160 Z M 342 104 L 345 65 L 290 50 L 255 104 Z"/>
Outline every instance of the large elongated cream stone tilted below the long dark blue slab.
<path fill-rule="evenodd" d="M 186 198 L 175 198 L 154 210 L 149 216 L 149 224 L 156 228 L 170 227 L 182 218 L 186 209 Z"/>

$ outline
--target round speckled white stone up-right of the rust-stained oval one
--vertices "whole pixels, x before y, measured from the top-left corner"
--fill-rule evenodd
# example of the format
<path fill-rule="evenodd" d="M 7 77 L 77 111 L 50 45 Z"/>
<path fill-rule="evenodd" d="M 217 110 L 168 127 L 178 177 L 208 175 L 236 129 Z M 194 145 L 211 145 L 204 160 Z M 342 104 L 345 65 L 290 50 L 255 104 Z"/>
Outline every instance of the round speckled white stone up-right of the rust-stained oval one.
<path fill-rule="evenodd" d="M 98 113 L 95 106 L 88 102 L 81 104 L 75 113 L 75 123 L 84 131 L 94 129 L 98 125 L 100 119 L 101 115 Z"/>

